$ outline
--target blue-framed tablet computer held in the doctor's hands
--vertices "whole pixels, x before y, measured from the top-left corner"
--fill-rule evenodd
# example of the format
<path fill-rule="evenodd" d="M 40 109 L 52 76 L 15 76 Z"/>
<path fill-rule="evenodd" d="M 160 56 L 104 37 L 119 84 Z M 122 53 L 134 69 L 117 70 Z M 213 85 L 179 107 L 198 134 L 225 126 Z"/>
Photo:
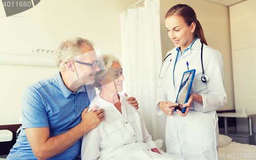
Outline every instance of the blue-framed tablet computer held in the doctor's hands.
<path fill-rule="evenodd" d="M 186 108 L 183 108 L 183 105 L 188 100 L 190 90 L 194 81 L 195 72 L 195 69 L 185 71 L 181 79 L 179 92 L 175 101 L 175 103 L 179 103 L 179 105 L 175 106 L 175 109 L 180 110 L 182 113 L 185 113 Z"/>

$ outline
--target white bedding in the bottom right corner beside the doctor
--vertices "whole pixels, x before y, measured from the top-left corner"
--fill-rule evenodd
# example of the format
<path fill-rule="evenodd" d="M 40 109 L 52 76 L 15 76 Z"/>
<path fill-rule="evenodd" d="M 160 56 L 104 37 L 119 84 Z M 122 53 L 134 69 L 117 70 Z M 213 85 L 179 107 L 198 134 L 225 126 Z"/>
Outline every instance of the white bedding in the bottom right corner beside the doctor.
<path fill-rule="evenodd" d="M 220 159 L 256 159 L 256 146 L 230 142 L 224 147 L 219 147 L 218 150 Z"/>

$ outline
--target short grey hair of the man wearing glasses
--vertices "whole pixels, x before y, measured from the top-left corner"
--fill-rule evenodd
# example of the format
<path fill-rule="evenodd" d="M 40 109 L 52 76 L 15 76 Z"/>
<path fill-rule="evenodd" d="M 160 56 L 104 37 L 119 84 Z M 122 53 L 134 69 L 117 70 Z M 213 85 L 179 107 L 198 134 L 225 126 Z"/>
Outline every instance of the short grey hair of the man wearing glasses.
<path fill-rule="evenodd" d="M 83 54 L 82 53 L 82 46 L 91 46 L 93 47 L 93 43 L 90 42 L 88 39 L 76 37 L 67 39 L 63 41 L 55 52 L 55 60 L 56 65 L 60 71 L 65 71 L 65 63 L 68 60 L 72 60 L 75 57 Z"/>

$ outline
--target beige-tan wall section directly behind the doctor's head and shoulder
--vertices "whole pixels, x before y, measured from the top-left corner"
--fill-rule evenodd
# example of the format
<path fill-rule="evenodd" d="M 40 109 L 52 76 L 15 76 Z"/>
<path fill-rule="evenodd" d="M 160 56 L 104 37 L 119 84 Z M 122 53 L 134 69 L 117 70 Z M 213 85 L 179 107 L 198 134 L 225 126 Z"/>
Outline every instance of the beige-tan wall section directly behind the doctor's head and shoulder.
<path fill-rule="evenodd" d="M 200 21 L 208 45 L 219 50 L 224 58 L 225 90 L 227 103 L 219 110 L 234 110 L 233 72 L 231 58 L 231 40 L 229 8 L 202 0 L 160 0 L 162 57 L 175 47 L 165 29 L 165 14 L 174 5 L 187 4 L 192 7 Z"/>

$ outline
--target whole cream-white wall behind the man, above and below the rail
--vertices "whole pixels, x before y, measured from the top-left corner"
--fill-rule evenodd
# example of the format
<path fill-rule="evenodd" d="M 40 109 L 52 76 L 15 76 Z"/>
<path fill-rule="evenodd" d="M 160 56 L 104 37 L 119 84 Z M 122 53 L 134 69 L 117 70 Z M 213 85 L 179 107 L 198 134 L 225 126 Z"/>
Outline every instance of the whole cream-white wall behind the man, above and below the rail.
<path fill-rule="evenodd" d="M 120 58 L 119 14 L 136 1 L 44 0 L 17 15 L 6 17 L 0 5 L 0 43 L 57 47 L 61 41 L 82 37 L 94 41 L 101 52 Z M 17 124 L 25 88 L 57 73 L 56 67 L 1 64 L 0 125 Z"/>

